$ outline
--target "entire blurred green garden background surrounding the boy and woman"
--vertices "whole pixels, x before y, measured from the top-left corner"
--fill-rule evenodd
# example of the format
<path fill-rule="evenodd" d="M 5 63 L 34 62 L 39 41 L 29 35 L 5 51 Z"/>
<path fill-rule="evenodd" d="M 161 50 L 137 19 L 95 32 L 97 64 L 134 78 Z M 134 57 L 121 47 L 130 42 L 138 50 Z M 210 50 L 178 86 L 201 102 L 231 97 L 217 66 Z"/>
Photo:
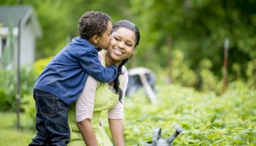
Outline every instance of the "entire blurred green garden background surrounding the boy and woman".
<path fill-rule="evenodd" d="M 175 124 L 184 131 L 174 145 L 256 145 L 256 1 L 1 0 L 0 5 L 0 145 L 31 141 L 33 84 L 78 36 L 80 16 L 92 10 L 108 13 L 112 23 L 127 19 L 138 26 L 141 40 L 126 66 L 154 74 L 156 103 L 143 86 L 125 99 L 127 145 L 150 141 L 154 128 L 167 138 Z"/>

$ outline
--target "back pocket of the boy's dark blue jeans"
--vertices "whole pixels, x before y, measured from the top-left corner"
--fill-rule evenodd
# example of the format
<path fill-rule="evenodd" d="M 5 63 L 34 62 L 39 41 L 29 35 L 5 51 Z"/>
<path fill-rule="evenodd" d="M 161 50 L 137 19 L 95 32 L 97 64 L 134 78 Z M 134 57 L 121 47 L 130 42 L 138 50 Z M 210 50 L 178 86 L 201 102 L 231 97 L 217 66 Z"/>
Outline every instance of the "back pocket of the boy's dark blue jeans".
<path fill-rule="evenodd" d="M 36 94 L 36 100 L 38 101 L 39 112 L 42 115 L 50 116 L 54 114 L 55 96 L 52 94 Z"/>

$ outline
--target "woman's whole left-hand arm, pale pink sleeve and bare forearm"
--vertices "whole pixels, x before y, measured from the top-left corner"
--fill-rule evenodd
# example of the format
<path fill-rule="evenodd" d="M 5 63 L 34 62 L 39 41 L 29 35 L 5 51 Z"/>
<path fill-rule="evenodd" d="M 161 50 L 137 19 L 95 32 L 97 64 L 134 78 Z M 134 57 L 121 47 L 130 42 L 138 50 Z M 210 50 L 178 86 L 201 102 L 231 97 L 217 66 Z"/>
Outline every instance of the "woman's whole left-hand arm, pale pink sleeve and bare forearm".
<path fill-rule="evenodd" d="M 90 120 L 92 119 L 96 89 L 97 81 L 90 76 L 87 77 L 85 88 L 75 103 L 76 121 L 82 135 L 82 139 L 85 141 L 87 146 L 97 145 L 95 133 L 92 129 L 92 125 L 90 124 Z"/>

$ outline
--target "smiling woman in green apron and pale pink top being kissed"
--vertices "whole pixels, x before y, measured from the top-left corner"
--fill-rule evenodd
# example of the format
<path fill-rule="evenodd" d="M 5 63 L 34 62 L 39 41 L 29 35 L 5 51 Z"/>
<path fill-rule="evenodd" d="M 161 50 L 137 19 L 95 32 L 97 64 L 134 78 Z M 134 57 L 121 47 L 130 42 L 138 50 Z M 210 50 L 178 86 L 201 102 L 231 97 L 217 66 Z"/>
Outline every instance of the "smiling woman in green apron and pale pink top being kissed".
<path fill-rule="evenodd" d="M 122 118 L 128 75 L 123 65 L 136 50 L 139 38 L 139 29 L 134 23 L 125 20 L 113 23 L 110 45 L 107 51 L 99 53 L 99 57 L 103 65 L 119 64 L 118 76 L 114 82 L 108 84 L 88 77 L 75 107 L 69 112 L 71 140 L 68 145 L 112 145 L 99 124 L 100 113 L 105 110 L 108 110 L 114 145 L 124 145 Z"/>

